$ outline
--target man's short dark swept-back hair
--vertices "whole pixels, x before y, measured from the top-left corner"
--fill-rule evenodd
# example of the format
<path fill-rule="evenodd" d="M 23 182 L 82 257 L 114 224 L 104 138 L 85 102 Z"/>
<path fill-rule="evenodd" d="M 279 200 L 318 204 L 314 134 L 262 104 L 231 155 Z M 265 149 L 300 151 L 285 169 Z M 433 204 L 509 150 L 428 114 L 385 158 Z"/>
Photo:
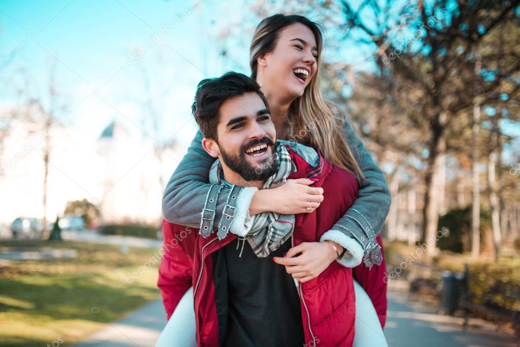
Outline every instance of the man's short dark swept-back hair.
<path fill-rule="evenodd" d="M 243 73 L 228 71 L 218 78 L 200 81 L 191 106 L 191 113 L 199 124 L 202 136 L 217 141 L 220 105 L 229 98 L 245 93 L 258 94 L 264 101 L 265 107 L 269 108 L 267 99 L 258 83 Z"/>

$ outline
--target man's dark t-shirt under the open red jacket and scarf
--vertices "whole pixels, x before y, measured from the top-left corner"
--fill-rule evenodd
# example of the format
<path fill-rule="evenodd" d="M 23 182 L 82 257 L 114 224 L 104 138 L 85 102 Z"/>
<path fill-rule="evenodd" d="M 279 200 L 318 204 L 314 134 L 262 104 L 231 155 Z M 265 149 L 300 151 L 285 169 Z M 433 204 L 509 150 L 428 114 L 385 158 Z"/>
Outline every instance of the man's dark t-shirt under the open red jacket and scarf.
<path fill-rule="evenodd" d="M 245 241 L 223 248 L 227 266 L 228 320 L 225 346 L 302 346 L 305 343 L 300 298 L 285 266 L 272 261 L 291 248 L 291 238 L 258 258 Z"/>

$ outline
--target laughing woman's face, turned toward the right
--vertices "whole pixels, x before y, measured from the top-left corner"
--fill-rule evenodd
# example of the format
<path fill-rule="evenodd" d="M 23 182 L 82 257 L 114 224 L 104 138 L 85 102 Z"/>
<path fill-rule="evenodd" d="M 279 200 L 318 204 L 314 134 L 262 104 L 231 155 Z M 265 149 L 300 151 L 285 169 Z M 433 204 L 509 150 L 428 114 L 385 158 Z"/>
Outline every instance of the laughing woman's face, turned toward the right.
<path fill-rule="evenodd" d="M 289 25 L 280 31 L 275 49 L 264 56 L 262 80 L 269 83 L 271 94 L 300 97 L 316 74 L 317 57 L 313 32 L 300 23 Z"/>

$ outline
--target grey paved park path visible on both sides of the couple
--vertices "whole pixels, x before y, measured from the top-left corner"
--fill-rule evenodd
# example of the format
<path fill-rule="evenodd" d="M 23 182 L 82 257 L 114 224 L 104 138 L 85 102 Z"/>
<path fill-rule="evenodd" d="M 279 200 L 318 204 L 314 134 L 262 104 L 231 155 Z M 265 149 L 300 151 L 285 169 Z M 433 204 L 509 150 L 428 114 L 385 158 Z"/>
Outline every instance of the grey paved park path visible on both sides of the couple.
<path fill-rule="evenodd" d="M 154 301 L 91 336 L 76 347 L 152 347 L 164 325 L 161 300 Z M 470 319 L 462 331 L 462 318 L 439 315 L 420 302 L 408 300 L 402 290 L 388 291 L 385 336 L 389 347 L 515 347 L 509 336 L 496 332 L 482 319 Z M 377 347 L 377 346 L 363 346 Z"/>

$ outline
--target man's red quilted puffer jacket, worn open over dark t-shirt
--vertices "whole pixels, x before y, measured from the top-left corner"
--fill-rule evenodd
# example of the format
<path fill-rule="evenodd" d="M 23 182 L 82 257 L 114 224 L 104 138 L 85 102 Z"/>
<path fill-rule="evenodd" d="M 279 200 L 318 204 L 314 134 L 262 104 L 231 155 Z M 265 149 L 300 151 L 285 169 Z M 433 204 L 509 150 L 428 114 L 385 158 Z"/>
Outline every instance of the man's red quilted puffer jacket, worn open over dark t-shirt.
<path fill-rule="evenodd" d="M 287 147 L 287 146 L 286 146 Z M 307 177 L 315 171 L 288 147 L 297 171 L 289 178 Z M 357 196 L 354 175 L 320 160 L 322 170 L 314 186 L 323 187 L 324 200 L 312 213 L 296 215 L 293 247 L 302 242 L 316 242 L 353 204 Z M 350 197 L 350 199 L 349 199 Z M 198 230 L 163 221 L 164 255 L 159 267 L 158 285 L 168 319 L 180 298 L 193 287 L 194 310 L 199 346 L 218 346 L 217 307 L 213 284 L 213 262 L 210 254 L 237 236 L 231 233 L 223 240 L 216 234 L 200 237 Z M 378 238 L 379 243 L 381 240 Z M 386 318 L 386 283 L 384 262 L 368 269 L 361 264 L 354 276 L 372 299 L 381 325 Z M 354 339 L 355 297 L 353 269 L 332 262 L 318 277 L 304 284 L 298 282 L 302 322 L 306 345 L 350 346 Z"/>

